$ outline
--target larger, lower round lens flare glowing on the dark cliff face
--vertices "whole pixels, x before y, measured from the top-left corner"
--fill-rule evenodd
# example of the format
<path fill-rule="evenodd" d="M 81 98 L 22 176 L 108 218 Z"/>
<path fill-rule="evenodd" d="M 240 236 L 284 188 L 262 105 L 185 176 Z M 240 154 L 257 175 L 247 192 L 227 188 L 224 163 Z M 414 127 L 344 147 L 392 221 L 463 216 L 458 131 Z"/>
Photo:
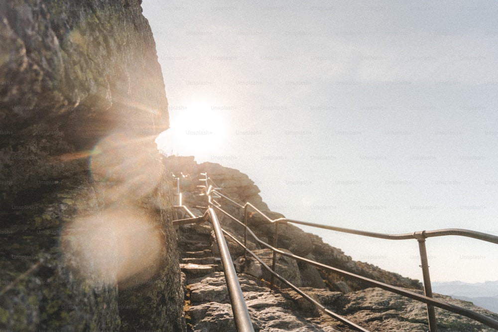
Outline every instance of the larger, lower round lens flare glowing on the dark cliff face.
<path fill-rule="evenodd" d="M 81 277 L 127 287 L 157 272 L 164 237 L 140 209 L 111 208 L 67 225 L 61 244 L 66 265 Z"/>

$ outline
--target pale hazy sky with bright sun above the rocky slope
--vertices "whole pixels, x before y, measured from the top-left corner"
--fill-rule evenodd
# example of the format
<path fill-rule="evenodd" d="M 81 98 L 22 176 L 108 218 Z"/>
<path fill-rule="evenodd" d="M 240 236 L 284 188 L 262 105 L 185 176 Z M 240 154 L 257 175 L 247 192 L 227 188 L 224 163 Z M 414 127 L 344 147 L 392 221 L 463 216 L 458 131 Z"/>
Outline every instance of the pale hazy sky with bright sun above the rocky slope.
<path fill-rule="evenodd" d="M 498 235 L 495 1 L 144 0 L 166 152 L 249 175 L 287 218 Z M 416 240 L 314 230 L 422 279 Z M 427 240 L 434 281 L 498 279 L 498 245 Z"/>

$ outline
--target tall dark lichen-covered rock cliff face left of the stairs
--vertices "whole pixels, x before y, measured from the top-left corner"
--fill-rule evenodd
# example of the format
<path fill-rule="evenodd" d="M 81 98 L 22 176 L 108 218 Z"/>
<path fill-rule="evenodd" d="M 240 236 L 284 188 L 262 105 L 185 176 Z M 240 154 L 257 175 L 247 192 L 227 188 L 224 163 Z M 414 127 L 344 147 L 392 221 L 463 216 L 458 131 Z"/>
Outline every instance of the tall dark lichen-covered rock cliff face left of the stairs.
<path fill-rule="evenodd" d="M 138 0 L 0 1 L 0 330 L 184 331 Z"/>

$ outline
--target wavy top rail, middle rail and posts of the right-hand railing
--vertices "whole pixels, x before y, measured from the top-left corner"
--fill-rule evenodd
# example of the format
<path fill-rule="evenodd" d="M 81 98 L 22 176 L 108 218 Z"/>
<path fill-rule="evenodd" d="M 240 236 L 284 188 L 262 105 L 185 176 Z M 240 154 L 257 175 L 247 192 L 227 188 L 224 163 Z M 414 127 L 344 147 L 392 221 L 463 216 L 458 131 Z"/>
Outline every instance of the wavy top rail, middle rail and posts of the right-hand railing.
<path fill-rule="evenodd" d="M 321 224 L 306 222 L 306 221 L 296 221 L 296 220 L 291 220 L 291 219 L 287 219 L 287 218 L 278 218 L 278 219 L 272 220 L 268 216 L 266 216 L 264 213 L 262 213 L 260 210 L 258 210 L 256 207 L 254 207 L 252 204 L 250 204 L 249 202 L 247 202 L 245 205 L 241 205 L 241 204 L 235 202 L 231 198 L 223 195 L 222 193 L 220 193 L 216 190 L 213 190 L 213 192 L 216 192 L 216 194 L 218 194 L 219 196 L 227 199 L 228 201 L 230 201 L 230 202 L 234 203 L 235 205 L 239 206 L 240 208 L 244 209 L 245 212 L 247 212 L 248 207 L 251 207 L 257 213 L 259 213 L 264 219 L 266 219 L 267 221 L 269 221 L 271 223 L 274 223 L 275 224 L 275 237 L 278 236 L 278 228 L 277 228 L 278 223 L 279 222 L 290 222 L 290 223 L 297 223 L 297 224 L 302 224 L 302 225 L 307 225 L 307 226 L 312 226 L 312 227 L 330 229 L 330 230 L 335 230 L 335 231 L 340 231 L 340 232 L 346 232 L 346 233 L 352 233 L 352 234 L 369 236 L 369 237 L 376 237 L 376 238 L 383 238 L 383 239 L 396 239 L 396 240 L 416 239 L 419 243 L 420 257 L 421 257 L 421 263 L 422 263 L 421 267 L 422 267 L 423 279 L 424 279 L 425 296 L 421 296 L 421 295 L 419 295 L 417 293 L 413 293 L 413 292 L 407 292 L 401 288 L 398 288 L 395 286 L 390 286 L 387 284 L 383 284 L 383 283 L 377 282 L 373 279 L 354 275 L 354 274 L 351 274 L 347 271 L 342 271 L 340 269 L 336 269 L 336 268 L 333 268 L 333 267 L 330 267 L 330 266 L 327 266 L 327 265 L 324 265 L 321 263 L 310 261 L 310 260 L 307 260 L 307 259 L 302 258 L 302 257 L 298 258 L 299 256 L 288 254 L 288 253 L 285 253 L 283 251 L 280 252 L 278 249 L 271 247 L 266 242 L 261 241 L 262 242 L 261 244 L 264 243 L 263 244 L 264 246 L 266 246 L 268 248 L 271 247 L 270 249 L 273 251 L 274 257 L 275 257 L 275 253 L 278 252 L 280 254 L 292 257 L 294 259 L 306 261 L 312 265 L 327 268 L 327 269 L 333 270 L 339 274 L 348 275 L 350 277 L 360 279 L 360 280 L 364 281 L 365 283 L 374 285 L 376 287 L 380 287 L 380 288 L 383 288 L 385 290 L 388 290 L 388 291 L 406 296 L 408 298 L 412 298 L 414 300 L 426 303 L 427 304 L 428 320 L 429 320 L 429 329 L 432 332 L 437 331 L 435 311 L 434 311 L 433 306 L 436 306 L 436 307 L 439 307 L 439 308 L 442 308 L 442 309 L 445 309 L 445 310 L 448 310 L 448 311 L 472 318 L 472 319 L 474 319 L 478 322 L 481 322 L 487 326 L 498 329 L 498 321 L 496 321 L 496 320 L 493 320 L 485 315 L 476 313 L 472 310 L 458 307 L 458 306 L 454 306 L 454 305 L 450 305 L 450 304 L 447 304 L 447 303 L 439 301 L 439 300 L 434 300 L 432 298 L 432 288 L 431 288 L 431 282 L 430 282 L 430 277 L 429 277 L 429 266 L 428 266 L 428 261 L 427 261 L 427 253 L 426 253 L 426 249 L 425 249 L 425 239 L 428 237 L 437 237 L 437 236 L 446 236 L 446 235 L 460 235 L 460 236 L 467 236 L 467 237 L 476 238 L 476 239 L 487 241 L 487 242 L 498 243 L 498 236 L 487 234 L 487 233 L 482 233 L 482 232 L 478 232 L 478 231 L 468 230 L 468 229 L 461 229 L 461 228 L 437 229 L 437 230 L 430 230 L 430 231 L 424 230 L 424 231 L 416 231 L 413 233 L 406 233 L 406 234 L 383 234 L 383 233 L 363 231 L 363 230 L 358 230 L 358 229 L 350 229 L 350 228 L 344 228 L 344 227 L 321 225 Z M 233 218 L 233 219 L 236 220 L 237 222 L 241 223 L 245 227 L 245 232 L 247 230 L 249 230 L 251 235 L 257 240 L 257 237 L 255 236 L 254 233 L 252 233 L 252 231 L 247 226 L 247 224 L 243 224 L 241 221 L 239 221 L 235 218 Z M 246 237 L 246 235 L 245 235 L 245 237 Z M 276 246 L 276 241 L 275 241 L 274 245 Z M 275 258 L 273 258 L 273 259 L 275 259 Z M 273 284 L 273 275 L 272 275 L 271 286 L 272 286 L 272 284 Z M 408 293 L 411 293 L 411 294 L 408 294 Z"/>

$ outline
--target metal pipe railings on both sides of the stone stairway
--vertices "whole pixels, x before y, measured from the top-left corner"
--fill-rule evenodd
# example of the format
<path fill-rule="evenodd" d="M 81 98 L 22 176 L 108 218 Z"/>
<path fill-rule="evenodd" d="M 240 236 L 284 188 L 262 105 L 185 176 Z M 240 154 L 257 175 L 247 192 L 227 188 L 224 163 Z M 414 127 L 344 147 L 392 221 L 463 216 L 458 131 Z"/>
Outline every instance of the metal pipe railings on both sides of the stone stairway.
<path fill-rule="evenodd" d="M 431 289 L 431 282 L 430 282 L 429 269 L 428 269 L 429 266 L 428 266 L 428 261 L 427 261 L 427 253 L 426 253 L 426 249 L 425 249 L 425 239 L 428 238 L 428 237 L 437 237 L 437 236 L 446 236 L 446 235 L 459 235 L 459 236 L 472 237 L 472 238 L 476 238 L 476 239 L 479 239 L 479 240 L 483 240 L 483 241 L 487 241 L 487 242 L 497 243 L 498 244 L 498 236 L 487 234 L 487 233 L 482 233 L 482 232 L 478 232 L 478 231 L 468 230 L 468 229 L 460 229 L 460 228 L 448 228 L 448 229 L 438 229 L 438 230 L 430 230 L 430 231 L 423 230 L 423 231 L 415 231 L 413 233 L 405 233 L 405 234 L 384 234 L 384 233 L 376 233 L 376 232 L 370 232 L 370 231 L 364 231 L 364 230 L 358 230 L 358 229 L 350 229 L 350 228 L 344 228 L 344 227 L 322 225 L 322 224 L 317 224 L 317 223 L 307 222 L 307 221 L 297 221 L 297 220 L 292 220 L 292 219 L 287 219 L 287 218 L 278 218 L 278 219 L 272 220 L 271 218 L 269 218 L 268 216 L 266 216 L 263 212 L 261 212 L 260 210 L 258 210 L 254 205 L 250 204 L 249 202 L 246 203 L 246 204 L 244 204 L 244 205 L 241 205 L 241 204 L 237 203 L 236 201 L 234 201 L 233 199 L 231 199 L 230 197 L 228 197 L 228 196 L 220 193 L 218 191 L 219 188 L 216 186 L 216 184 L 210 178 L 208 178 L 207 174 L 202 173 L 202 175 L 205 175 L 205 179 L 203 179 L 201 181 L 205 182 L 205 186 L 202 186 L 202 187 L 204 187 L 204 194 L 208 197 L 208 201 L 209 201 L 209 208 L 208 208 L 208 210 L 206 211 L 206 213 L 205 213 L 204 216 L 202 216 L 202 217 L 195 217 L 188 210 L 188 208 L 186 208 L 185 206 L 182 205 L 182 203 L 181 203 L 181 194 L 178 193 L 178 195 L 179 195 L 179 205 L 176 206 L 176 208 L 183 209 L 184 211 L 187 212 L 187 214 L 191 218 L 187 218 L 187 219 L 175 221 L 176 224 L 201 222 L 201 221 L 205 221 L 205 220 L 207 220 L 207 218 L 209 218 L 209 217 L 206 217 L 207 215 L 211 216 L 213 227 L 215 227 L 215 224 L 217 224 L 216 228 L 219 228 L 218 231 L 215 230 L 215 234 L 217 236 L 217 240 L 218 240 L 219 245 L 220 245 L 220 242 L 223 242 L 226 245 L 225 238 L 224 238 L 224 236 L 222 236 L 223 233 L 224 233 L 225 235 L 227 235 L 227 236 L 231 237 L 232 239 L 234 239 L 234 241 L 236 241 L 239 245 L 243 246 L 245 248 L 245 254 L 246 254 L 246 252 L 248 252 L 249 254 L 251 254 L 256 260 L 259 261 L 259 263 L 262 264 L 262 266 L 264 268 L 266 268 L 268 271 L 270 271 L 270 273 L 271 273 L 271 281 L 270 281 L 271 288 L 273 288 L 273 277 L 276 277 L 279 280 L 281 280 L 283 283 L 285 283 L 286 285 L 288 285 L 290 288 L 292 288 L 294 291 L 296 291 L 298 294 L 300 294 L 301 296 L 303 296 L 306 300 L 308 300 L 313 305 L 315 305 L 318 309 L 320 309 L 324 313 L 328 314 L 329 316 L 331 316 L 331 317 L 335 318 L 336 320 L 338 320 L 338 321 L 340 321 L 340 322 L 348 325 L 351 328 L 354 328 L 355 330 L 362 331 L 362 332 L 368 332 L 368 330 L 365 330 L 364 328 L 362 328 L 362 327 L 358 326 L 357 324 L 355 324 L 355 323 L 347 320 L 346 318 L 344 318 L 344 317 L 342 317 L 342 316 L 340 316 L 340 315 L 338 315 L 338 314 L 336 314 L 336 313 L 328 310 L 323 305 L 321 305 L 320 303 L 318 303 L 316 300 L 312 299 L 306 293 L 304 293 L 303 291 L 301 291 L 298 287 L 296 287 L 292 283 L 288 282 L 282 276 L 280 276 L 278 273 L 276 273 L 275 272 L 275 257 L 276 257 L 276 254 L 278 253 L 280 255 L 288 256 L 288 257 L 291 257 L 291 258 L 293 258 L 295 260 L 298 260 L 298 261 L 306 262 L 308 264 L 311 264 L 311 265 L 314 265 L 314 266 L 317 266 L 317 267 L 320 267 L 320 268 L 324 268 L 324 269 L 333 271 L 335 273 L 338 273 L 340 275 L 343 275 L 343 276 L 346 276 L 346 277 L 349 277 L 349 278 L 360 280 L 360 281 L 362 281 L 362 282 L 364 282 L 364 283 L 366 283 L 368 285 L 371 285 L 373 287 L 379 287 L 381 289 L 384 289 L 384 290 L 387 290 L 387 291 L 390 291 L 390 292 L 402 295 L 404 297 L 411 298 L 413 300 L 426 303 L 427 304 L 428 321 L 429 321 L 429 329 L 430 329 L 431 332 L 436 332 L 437 331 L 436 317 L 435 317 L 434 307 L 439 307 L 441 309 L 444 309 L 444 310 L 447 310 L 447 311 L 451 311 L 453 313 L 456 313 L 456 314 L 459 314 L 459 315 L 462 315 L 462 316 L 469 317 L 471 319 L 474 319 L 474 320 L 476 320 L 476 321 L 478 321 L 480 323 L 483 323 L 483 324 L 485 324 L 485 325 L 487 325 L 489 327 L 492 327 L 492 328 L 498 330 L 498 321 L 496 321 L 496 320 L 494 320 L 494 319 L 492 319 L 492 318 L 490 318 L 488 316 L 485 316 L 485 315 L 482 315 L 480 313 L 474 312 L 474 311 L 472 311 L 470 309 L 459 307 L 459 306 L 455 306 L 455 305 L 451 305 L 449 303 L 446 303 L 444 301 L 440 301 L 440 300 L 434 299 L 432 297 L 432 289 Z M 209 182 L 212 185 L 210 185 Z M 230 215 L 228 212 L 226 212 L 225 210 L 223 210 L 221 208 L 221 204 L 218 203 L 217 201 L 215 201 L 213 198 L 223 198 L 223 199 L 226 199 L 229 202 L 231 202 L 232 204 L 238 206 L 239 208 L 244 209 L 245 223 L 243 223 L 242 221 L 239 221 L 237 218 L 235 218 L 234 216 Z M 219 210 L 221 213 L 223 213 L 224 215 L 228 216 L 232 220 L 238 222 L 239 224 L 241 224 L 244 227 L 244 243 L 240 242 L 234 235 L 230 234 L 229 232 L 227 232 L 226 230 L 224 230 L 223 228 L 221 228 L 221 226 L 219 225 L 218 218 L 216 217 L 216 213 L 214 212 L 213 208 Z M 274 233 L 274 238 L 273 238 L 273 241 L 274 241 L 273 245 L 270 245 L 270 244 L 268 244 L 268 243 L 260 240 L 254 234 L 254 232 L 252 232 L 252 230 L 247 226 L 247 216 L 248 216 L 248 209 L 249 208 L 251 210 L 254 210 L 254 212 L 257 212 L 266 221 L 268 221 L 270 223 L 273 223 L 275 225 L 275 233 Z M 217 222 L 215 222 L 214 220 L 216 220 Z M 329 229 L 329 230 L 334 230 L 334 231 L 339 231 L 339 232 L 345 232 L 345 233 L 351 233 L 351 234 L 362 235 L 362 236 L 369 236 L 369 237 L 375 237 L 375 238 L 382 238 L 382 239 L 390 239 L 390 240 L 416 239 L 418 241 L 419 250 L 420 250 L 420 258 L 421 258 L 421 263 L 422 263 L 421 267 L 422 267 L 423 278 L 424 278 L 424 291 L 425 291 L 425 295 L 421 295 L 421 294 L 418 294 L 418 293 L 415 293 L 415 292 L 412 292 L 412 291 L 409 291 L 409 290 L 406 290 L 406 289 L 403 289 L 403 288 L 400 288 L 400 287 L 391 286 L 391 285 L 388 285 L 388 284 L 385 284 L 385 283 L 382 283 L 382 282 L 379 282 L 379 281 L 376 281 L 376 280 L 373 280 L 373 279 L 370 279 L 370 278 L 367 278 L 367 277 L 363 277 L 363 276 L 360 276 L 360 275 L 357 275 L 357 274 L 354 274 L 354 273 L 351 273 L 351 272 L 348 272 L 348 271 L 345 271 L 345 270 L 334 268 L 332 266 L 329 266 L 329 265 L 326 265 L 326 264 L 322 264 L 322 263 L 319 263 L 319 262 L 316 262 L 316 261 L 313 261 L 313 260 L 310 260 L 310 259 L 307 259 L 307 258 L 304 258 L 304 257 L 301 257 L 301 256 L 294 255 L 292 253 L 287 253 L 287 252 L 284 252 L 284 251 L 281 251 L 281 250 L 277 249 L 276 246 L 277 246 L 277 239 L 278 239 L 278 224 L 282 223 L 282 222 L 283 223 L 289 222 L 289 223 L 301 224 L 301 225 L 306 225 L 306 226 L 311 226 L 311 227 L 317 227 L 317 228 L 322 228 L 322 229 Z M 272 267 L 269 267 L 268 265 L 266 265 L 259 257 L 257 257 L 257 255 L 255 255 L 252 251 L 249 250 L 249 248 L 247 247 L 247 233 L 248 232 L 249 232 L 250 236 L 252 236 L 256 242 L 258 242 L 260 245 L 262 245 L 262 246 L 264 246 L 264 247 L 272 250 L 272 252 L 273 252 Z M 221 251 L 222 251 L 222 249 L 220 247 L 220 252 Z M 230 257 L 230 252 L 228 252 L 228 247 L 227 247 L 226 253 L 224 255 L 226 255 L 226 257 L 227 257 L 227 259 L 226 259 L 227 261 L 223 263 L 223 265 L 224 265 L 224 271 L 226 270 L 225 269 L 225 265 L 227 265 L 229 267 L 228 270 L 230 270 L 230 266 L 232 268 L 234 268 L 234 265 L 233 265 L 231 257 Z M 222 261 L 223 261 L 223 258 L 222 258 Z M 225 271 L 226 279 L 227 279 L 227 285 L 229 283 L 229 279 L 231 279 L 233 277 L 232 273 L 235 274 L 235 269 L 234 269 L 234 271 L 230 271 L 229 274 L 231 276 L 227 277 L 227 271 Z M 237 278 L 236 275 L 235 275 L 235 278 Z M 233 282 L 234 282 L 234 280 L 231 281 L 231 283 L 233 283 Z M 234 294 L 235 294 L 234 295 L 234 299 L 236 299 L 237 297 L 239 297 L 239 298 L 242 298 L 242 301 L 244 302 L 244 297 L 242 296 L 242 291 L 240 289 L 240 284 L 239 284 L 238 280 L 236 280 L 236 282 L 237 282 L 237 285 L 238 285 L 238 290 L 234 289 Z M 231 295 L 231 298 L 232 298 L 232 295 Z M 239 301 L 239 300 L 236 299 L 235 301 Z M 247 311 L 247 306 L 246 306 L 245 302 L 244 302 L 244 307 L 245 307 L 245 310 L 244 310 L 244 308 L 241 308 L 240 310 L 241 310 L 241 313 L 244 311 L 245 314 L 247 315 L 247 317 L 244 317 L 242 320 L 246 320 L 246 321 L 249 320 L 249 324 L 250 324 L 249 313 Z M 234 318 L 235 318 L 235 316 L 236 316 L 236 309 L 234 308 L 234 305 L 233 305 L 233 310 L 234 310 Z M 237 312 L 238 311 L 239 311 L 239 309 L 237 309 Z M 241 315 L 239 315 L 239 316 L 241 316 Z M 242 316 L 245 316 L 245 315 L 242 314 Z M 247 323 L 246 323 L 246 327 L 243 327 L 243 323 L 241 323 L 241 329 L 245 329 L 245 328 L 247 328 Z M 252 325 L 250 325 L 250 328 L 252 329 Z M 238 325 L 238 329 L 239 329 L 239 325 Z M 239 330 L 239 331 L 252 331 L 252 330 Z"/>

